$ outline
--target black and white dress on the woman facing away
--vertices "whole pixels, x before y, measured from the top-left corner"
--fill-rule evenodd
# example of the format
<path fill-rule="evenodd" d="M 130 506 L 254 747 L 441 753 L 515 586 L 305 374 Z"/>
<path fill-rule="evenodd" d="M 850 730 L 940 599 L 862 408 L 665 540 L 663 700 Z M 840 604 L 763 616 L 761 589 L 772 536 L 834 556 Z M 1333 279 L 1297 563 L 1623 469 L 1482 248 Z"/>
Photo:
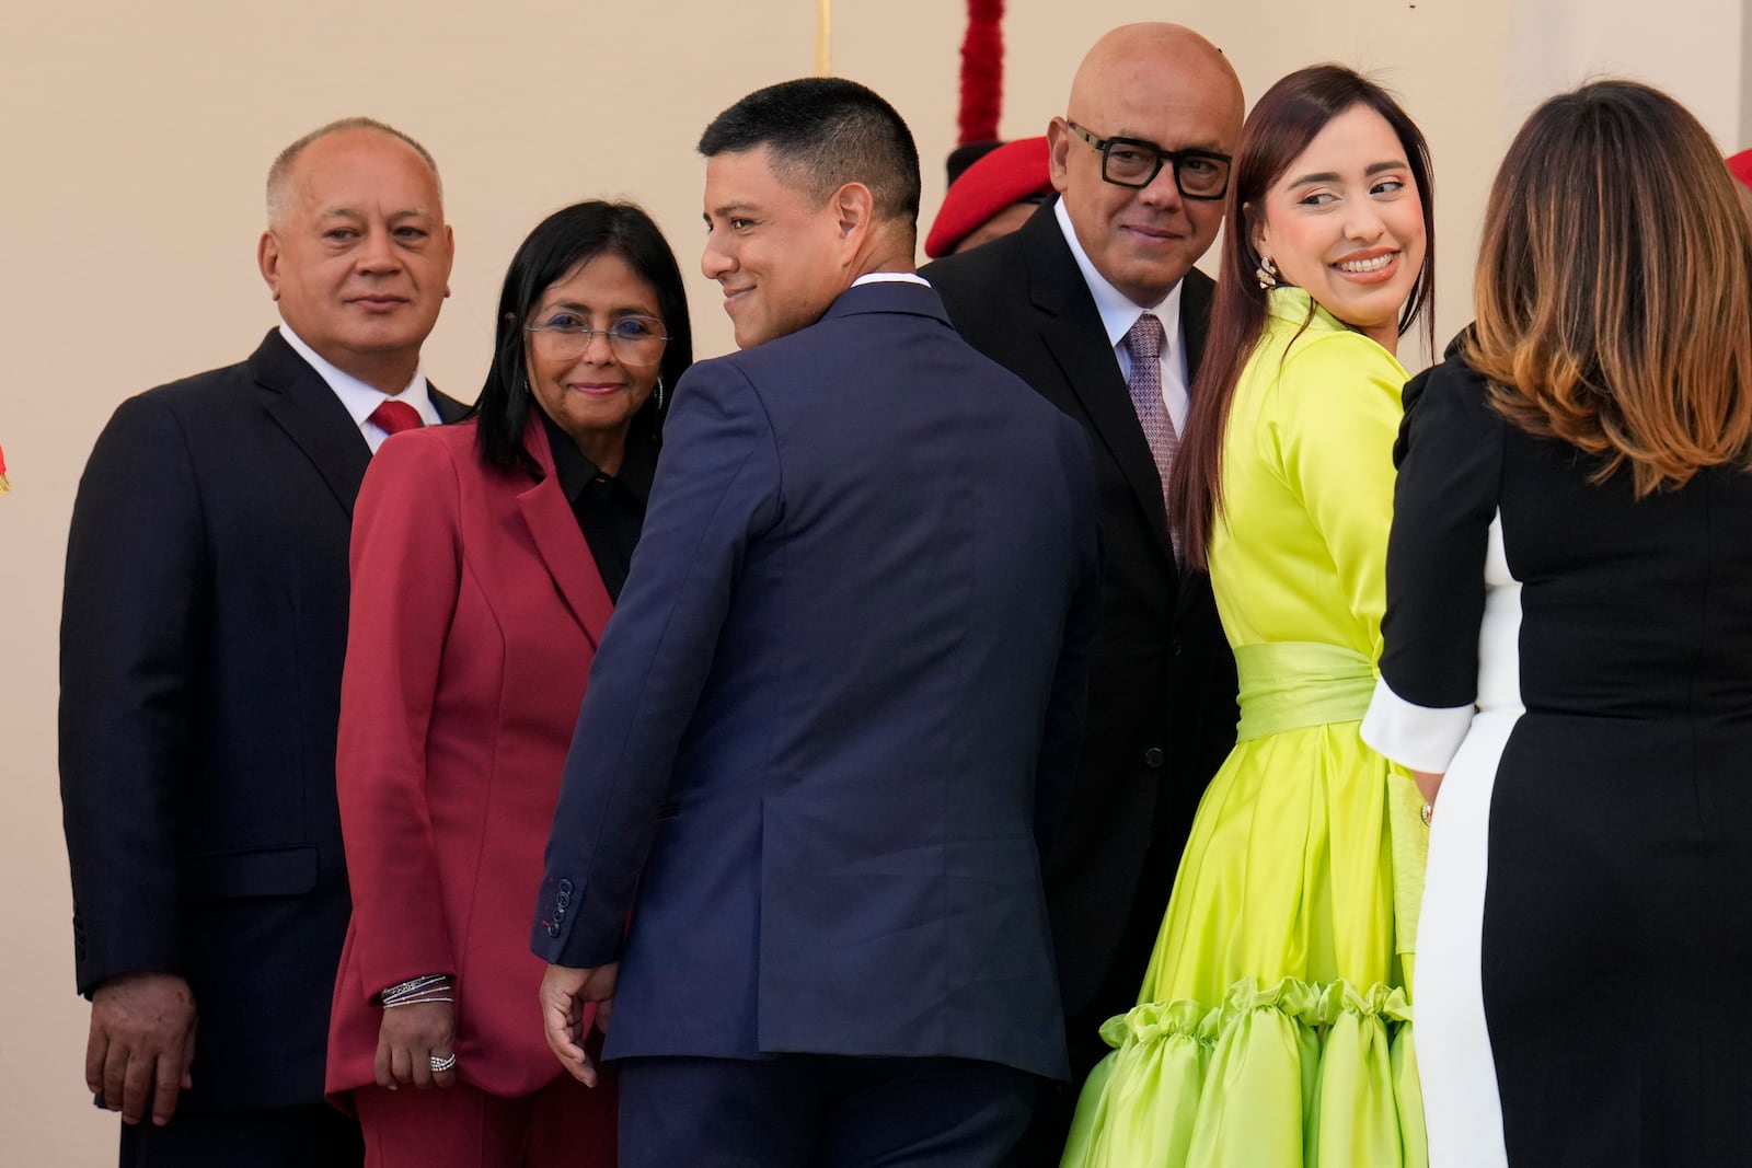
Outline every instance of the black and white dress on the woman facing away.
<path fill-rule="evenodd" d="M 1752 475 L 1635 499 L 1456 357 L 1405 391 L 1363 737 L 1445 772 L 1433 1168 L 1752 1164 Z"/>

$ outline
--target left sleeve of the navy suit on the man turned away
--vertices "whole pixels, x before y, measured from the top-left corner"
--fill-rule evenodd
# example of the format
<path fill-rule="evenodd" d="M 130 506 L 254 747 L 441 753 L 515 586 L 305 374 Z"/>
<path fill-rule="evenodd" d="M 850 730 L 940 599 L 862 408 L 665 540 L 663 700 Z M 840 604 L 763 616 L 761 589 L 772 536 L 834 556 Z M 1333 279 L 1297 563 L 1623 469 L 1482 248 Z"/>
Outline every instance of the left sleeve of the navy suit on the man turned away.
<path fill-rule="evenodd" d="M 731 361 L 676 385 L 645 531 L 578 711 L 531 947 L 617 960 L 680 739 L 711 671 L 743 555 L 780 515 L 780 459 Z"/>

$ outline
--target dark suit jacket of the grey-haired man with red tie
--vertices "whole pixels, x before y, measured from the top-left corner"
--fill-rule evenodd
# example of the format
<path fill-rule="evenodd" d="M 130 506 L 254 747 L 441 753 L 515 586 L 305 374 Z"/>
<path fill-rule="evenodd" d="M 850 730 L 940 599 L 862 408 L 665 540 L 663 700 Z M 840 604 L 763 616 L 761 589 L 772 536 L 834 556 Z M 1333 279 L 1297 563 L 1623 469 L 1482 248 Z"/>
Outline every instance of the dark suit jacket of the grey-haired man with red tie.
<path fill-rule="evenodd" d="M 464 410 L 433 401 L 447 420 Z M 182 1107 L 322 1100 L 350 907 L 335 804 L 347 539 L 370 459 L 272 331 L 242 364 L 124 401 L 79 482 L 60 718 L 79 991 L 189 981 Z"/>

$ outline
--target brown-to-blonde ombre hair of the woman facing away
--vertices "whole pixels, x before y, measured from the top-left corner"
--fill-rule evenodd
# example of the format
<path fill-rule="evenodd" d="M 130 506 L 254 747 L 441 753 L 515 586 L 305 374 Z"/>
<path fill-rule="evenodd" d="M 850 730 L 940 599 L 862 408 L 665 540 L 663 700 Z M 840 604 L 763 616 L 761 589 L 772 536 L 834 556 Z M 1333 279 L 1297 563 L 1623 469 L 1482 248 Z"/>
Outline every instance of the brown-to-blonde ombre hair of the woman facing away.
<path fill-rule="evenodd" d="M 1484 217 L 1465 357 L 1533 434 L 1629 464 L 1638 497 L 1752 469 L 1752 219 L 1678 102 L 1601 81 L 1545 102 Z"/>

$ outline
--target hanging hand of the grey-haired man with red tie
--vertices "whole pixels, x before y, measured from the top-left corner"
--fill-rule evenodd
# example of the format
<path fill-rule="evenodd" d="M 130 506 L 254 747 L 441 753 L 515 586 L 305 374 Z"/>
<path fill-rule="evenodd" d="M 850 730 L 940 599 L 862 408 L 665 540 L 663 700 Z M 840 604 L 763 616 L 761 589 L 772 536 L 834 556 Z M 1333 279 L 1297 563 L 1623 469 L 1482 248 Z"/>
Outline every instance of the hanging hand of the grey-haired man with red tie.
<path fill-rule="evenodd" d="M 177 1114 L 177 1096 L 194 1086 L 194 995 L 175 974 L 123 974 L 91 995 L 86 1038 L 86 1086 L 124 1124 L 152 1107 L 163 1128 Z"/>

